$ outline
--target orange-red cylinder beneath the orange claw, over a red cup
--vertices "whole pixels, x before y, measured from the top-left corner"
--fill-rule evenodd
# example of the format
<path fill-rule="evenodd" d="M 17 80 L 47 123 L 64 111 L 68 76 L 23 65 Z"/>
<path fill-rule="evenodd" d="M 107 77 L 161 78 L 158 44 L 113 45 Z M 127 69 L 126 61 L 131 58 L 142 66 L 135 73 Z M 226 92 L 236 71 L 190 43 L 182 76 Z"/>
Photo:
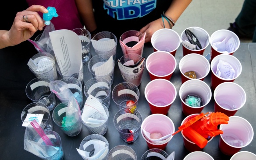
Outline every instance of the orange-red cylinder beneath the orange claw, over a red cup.
<path fill-rule="evenodd" d="M 200 148 L 204 148 L 208 142 L 207 139 L 205 139 L 203 136 L 201 136 L 198 132 L 196 132 L 191 127 L 187 127 L 186 129 L 183 129 L 183 134 L 193 143 L 196 143 L 196 145 L 199 146 Z"/>

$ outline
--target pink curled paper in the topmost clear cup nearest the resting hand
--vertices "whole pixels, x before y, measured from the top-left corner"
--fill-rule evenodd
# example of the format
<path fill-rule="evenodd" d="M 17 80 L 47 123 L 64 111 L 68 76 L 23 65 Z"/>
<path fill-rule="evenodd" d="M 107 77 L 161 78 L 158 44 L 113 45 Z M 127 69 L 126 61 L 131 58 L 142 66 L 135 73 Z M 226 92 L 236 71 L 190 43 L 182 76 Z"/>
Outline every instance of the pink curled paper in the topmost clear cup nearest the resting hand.
<path fill-rule="evenodd" d="M 128 38 L 124 39 L 123 41 L 120 40 L 121 49 L 122 49 L 124 55 L 128 53 L 127 51 L 132 51 L 132 53 L 137 53 L 140 55 L 141 50 L 139 50 L 139 49 L 141 49 L 144 46 L 145 37 L 146 37 L 146 33 L 144 34 L 143 38 L 141 38 L 141 40 L 139 40 L 139 37 L 136 37 L 136 36 L 128 37 Z M 128 47 L 126 45 L 126 43 L 128 43 L 128 42 L 138 42 L 138 43 L 132 47 Z M 131 53 L 131 52 L 129 52 L 129 53 Z"/>

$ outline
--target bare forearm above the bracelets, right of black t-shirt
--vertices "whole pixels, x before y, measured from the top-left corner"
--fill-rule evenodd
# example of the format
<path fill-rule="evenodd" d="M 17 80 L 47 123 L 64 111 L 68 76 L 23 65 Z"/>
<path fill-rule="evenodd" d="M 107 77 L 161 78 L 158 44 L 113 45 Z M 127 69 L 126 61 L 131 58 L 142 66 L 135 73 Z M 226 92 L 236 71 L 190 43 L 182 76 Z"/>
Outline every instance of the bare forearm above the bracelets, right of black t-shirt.
<path fill-rule="evenodd" d="M 173 0 L 164 14 L 175 23 L 191 2 L 192 0 Z"/>

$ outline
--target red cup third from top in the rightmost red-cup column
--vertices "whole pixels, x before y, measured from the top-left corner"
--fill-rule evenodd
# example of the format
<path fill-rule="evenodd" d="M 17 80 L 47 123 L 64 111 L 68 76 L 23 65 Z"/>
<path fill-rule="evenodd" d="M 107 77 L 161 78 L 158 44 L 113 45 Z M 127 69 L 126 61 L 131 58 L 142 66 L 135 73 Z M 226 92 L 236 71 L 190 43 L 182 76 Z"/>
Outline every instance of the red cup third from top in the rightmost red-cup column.
<path fill-rule="evenodd" d="M 214 112 L 233 116 L 246 102 L 245 90 L 236 83 L 224 82 L 214 90 Z"/>

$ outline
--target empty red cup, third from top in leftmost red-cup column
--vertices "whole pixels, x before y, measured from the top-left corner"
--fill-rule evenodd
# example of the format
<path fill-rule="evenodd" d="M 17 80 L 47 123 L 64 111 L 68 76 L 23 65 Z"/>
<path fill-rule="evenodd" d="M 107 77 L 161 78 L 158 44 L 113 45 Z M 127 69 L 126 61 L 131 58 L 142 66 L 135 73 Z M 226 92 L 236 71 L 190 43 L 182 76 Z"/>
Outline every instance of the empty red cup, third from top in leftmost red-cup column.
<path fill-rule="evenodd" d="M 152 114 L 167 115 L 176 96 L 176 88 L 169 80 L 152 80 L 145 87 L 145 97 Z"/>

